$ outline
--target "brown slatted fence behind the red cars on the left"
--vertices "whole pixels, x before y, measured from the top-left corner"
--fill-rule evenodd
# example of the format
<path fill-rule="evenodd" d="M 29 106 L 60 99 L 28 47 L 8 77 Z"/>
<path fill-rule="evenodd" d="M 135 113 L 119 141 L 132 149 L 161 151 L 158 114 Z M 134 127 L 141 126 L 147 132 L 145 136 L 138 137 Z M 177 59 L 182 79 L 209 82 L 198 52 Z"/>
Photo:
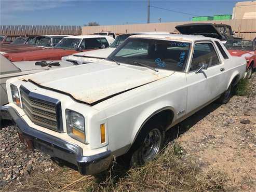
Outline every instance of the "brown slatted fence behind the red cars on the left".
<path fill-rule="evenodd" d="M 81 35 L 82 29 L 75 25 L 0 25 L 0 34 L 18 37 L 36 35 Z"/>

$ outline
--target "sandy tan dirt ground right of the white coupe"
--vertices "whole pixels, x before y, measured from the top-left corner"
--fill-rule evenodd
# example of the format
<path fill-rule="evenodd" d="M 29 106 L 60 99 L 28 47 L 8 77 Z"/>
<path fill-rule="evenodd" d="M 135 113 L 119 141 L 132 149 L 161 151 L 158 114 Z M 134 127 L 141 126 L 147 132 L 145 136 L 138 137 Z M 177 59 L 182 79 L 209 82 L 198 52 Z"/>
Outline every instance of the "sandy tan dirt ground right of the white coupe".
<path fill-rule="evenodd" d="M 256 89 L 256 75 L 250 79 Z M 234 96 L 225 105 L 212 103 L 182 122 L 189 130 L 178 138 L 186 155 L 194 156 L 201 168 L 227 174 L 237 190 L 256 191 L 256 97 Z"/>

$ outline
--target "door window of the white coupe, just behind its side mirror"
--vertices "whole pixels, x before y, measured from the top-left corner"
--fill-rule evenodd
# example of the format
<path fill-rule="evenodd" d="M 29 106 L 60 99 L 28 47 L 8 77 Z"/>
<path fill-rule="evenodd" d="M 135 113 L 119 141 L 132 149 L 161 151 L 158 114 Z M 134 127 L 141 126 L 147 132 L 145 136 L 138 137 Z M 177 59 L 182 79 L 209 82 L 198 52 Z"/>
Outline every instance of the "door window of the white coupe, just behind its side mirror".
<path fill-rule="evenodd" d="M 208 64 L 208 67 L 219 64 L 219 58 L 211 43 L 195 44 L 190 71 L 195 71 L 202 64 Z"/>

